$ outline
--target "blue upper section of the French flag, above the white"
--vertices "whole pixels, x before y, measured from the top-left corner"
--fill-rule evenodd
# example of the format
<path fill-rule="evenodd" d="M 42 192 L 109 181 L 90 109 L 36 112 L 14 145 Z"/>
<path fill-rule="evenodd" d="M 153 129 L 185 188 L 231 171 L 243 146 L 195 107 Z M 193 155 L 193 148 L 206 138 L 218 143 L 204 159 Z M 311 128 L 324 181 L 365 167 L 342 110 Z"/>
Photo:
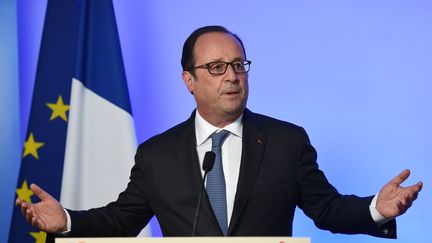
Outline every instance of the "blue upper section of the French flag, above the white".
<path fill-rule="evenodd" d="M 75 77 L 132 114 L 112 1 L 82 4 Z"/>

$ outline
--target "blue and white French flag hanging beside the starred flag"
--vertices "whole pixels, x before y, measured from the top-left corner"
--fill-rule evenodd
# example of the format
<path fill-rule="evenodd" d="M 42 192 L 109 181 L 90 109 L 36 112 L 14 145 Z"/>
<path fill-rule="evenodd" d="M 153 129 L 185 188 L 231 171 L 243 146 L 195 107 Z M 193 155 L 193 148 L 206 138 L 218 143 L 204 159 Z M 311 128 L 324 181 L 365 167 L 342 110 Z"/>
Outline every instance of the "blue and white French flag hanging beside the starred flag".
<path fill-rule="evenodd" d="M 115 200 L 137 147 L 112 2 L 81 4 L 60 197 L 70 209 Z"/>

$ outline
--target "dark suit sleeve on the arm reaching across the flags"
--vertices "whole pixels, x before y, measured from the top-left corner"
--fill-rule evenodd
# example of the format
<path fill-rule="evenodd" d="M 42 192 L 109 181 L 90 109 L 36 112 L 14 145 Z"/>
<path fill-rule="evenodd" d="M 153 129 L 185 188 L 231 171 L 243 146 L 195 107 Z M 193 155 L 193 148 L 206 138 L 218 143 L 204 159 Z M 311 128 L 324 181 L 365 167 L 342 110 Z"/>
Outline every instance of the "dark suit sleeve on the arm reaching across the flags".
<path fill-rule="evenodd" d="M 86 211 L 68 210 L 72 222 L 68 237 L 136 236 L 150 221 L 153 211 L 146 196 L 146 177 L 140 148 L 135 155 L 128 186 L 117 201 Z"/>

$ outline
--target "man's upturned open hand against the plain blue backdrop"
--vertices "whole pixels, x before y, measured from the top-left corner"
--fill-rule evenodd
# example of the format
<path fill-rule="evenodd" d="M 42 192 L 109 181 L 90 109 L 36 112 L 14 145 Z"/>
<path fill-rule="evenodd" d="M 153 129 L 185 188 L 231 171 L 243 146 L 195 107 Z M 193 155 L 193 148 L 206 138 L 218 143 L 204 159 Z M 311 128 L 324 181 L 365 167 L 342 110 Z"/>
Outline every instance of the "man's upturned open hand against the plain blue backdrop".
<path fill-rule="evenodd" d="M 416 200 L 423 186 L 421 181 L 407 187 L 402 187 L 400 185 L 409 175 L 410 171 L 404 170 L 381 188 L 376 209 L 382 216 L 394 218 L 402 215 L 411 207 L 414 200 Z"/>

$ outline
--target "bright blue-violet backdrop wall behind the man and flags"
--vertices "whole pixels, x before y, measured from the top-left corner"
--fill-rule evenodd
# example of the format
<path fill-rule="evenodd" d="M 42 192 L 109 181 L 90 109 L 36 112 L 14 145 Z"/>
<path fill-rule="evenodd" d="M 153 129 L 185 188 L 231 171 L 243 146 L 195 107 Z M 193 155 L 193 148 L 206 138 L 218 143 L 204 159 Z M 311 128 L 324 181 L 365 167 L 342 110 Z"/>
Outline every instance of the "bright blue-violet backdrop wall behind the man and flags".
<path fill-rule="evenodd" d="M 18 1 L 21 134 L 45 6 Z M 114 7 L 138 141 L 190 115 L 194 100 L 181 80 L 183 41 L 197 27 L 224 25 L 240 35 L 253 62 L 248 107 L 305 127 L 341 193 L 375 194 L 410 168 L 408 183 L 421 179 L 425 186 L 398 218 L 394 242 L 430 241 L 432 2 L 116 0 Z M 301 211 L 294 235 L 386 242 L 318 230 Z"/>

